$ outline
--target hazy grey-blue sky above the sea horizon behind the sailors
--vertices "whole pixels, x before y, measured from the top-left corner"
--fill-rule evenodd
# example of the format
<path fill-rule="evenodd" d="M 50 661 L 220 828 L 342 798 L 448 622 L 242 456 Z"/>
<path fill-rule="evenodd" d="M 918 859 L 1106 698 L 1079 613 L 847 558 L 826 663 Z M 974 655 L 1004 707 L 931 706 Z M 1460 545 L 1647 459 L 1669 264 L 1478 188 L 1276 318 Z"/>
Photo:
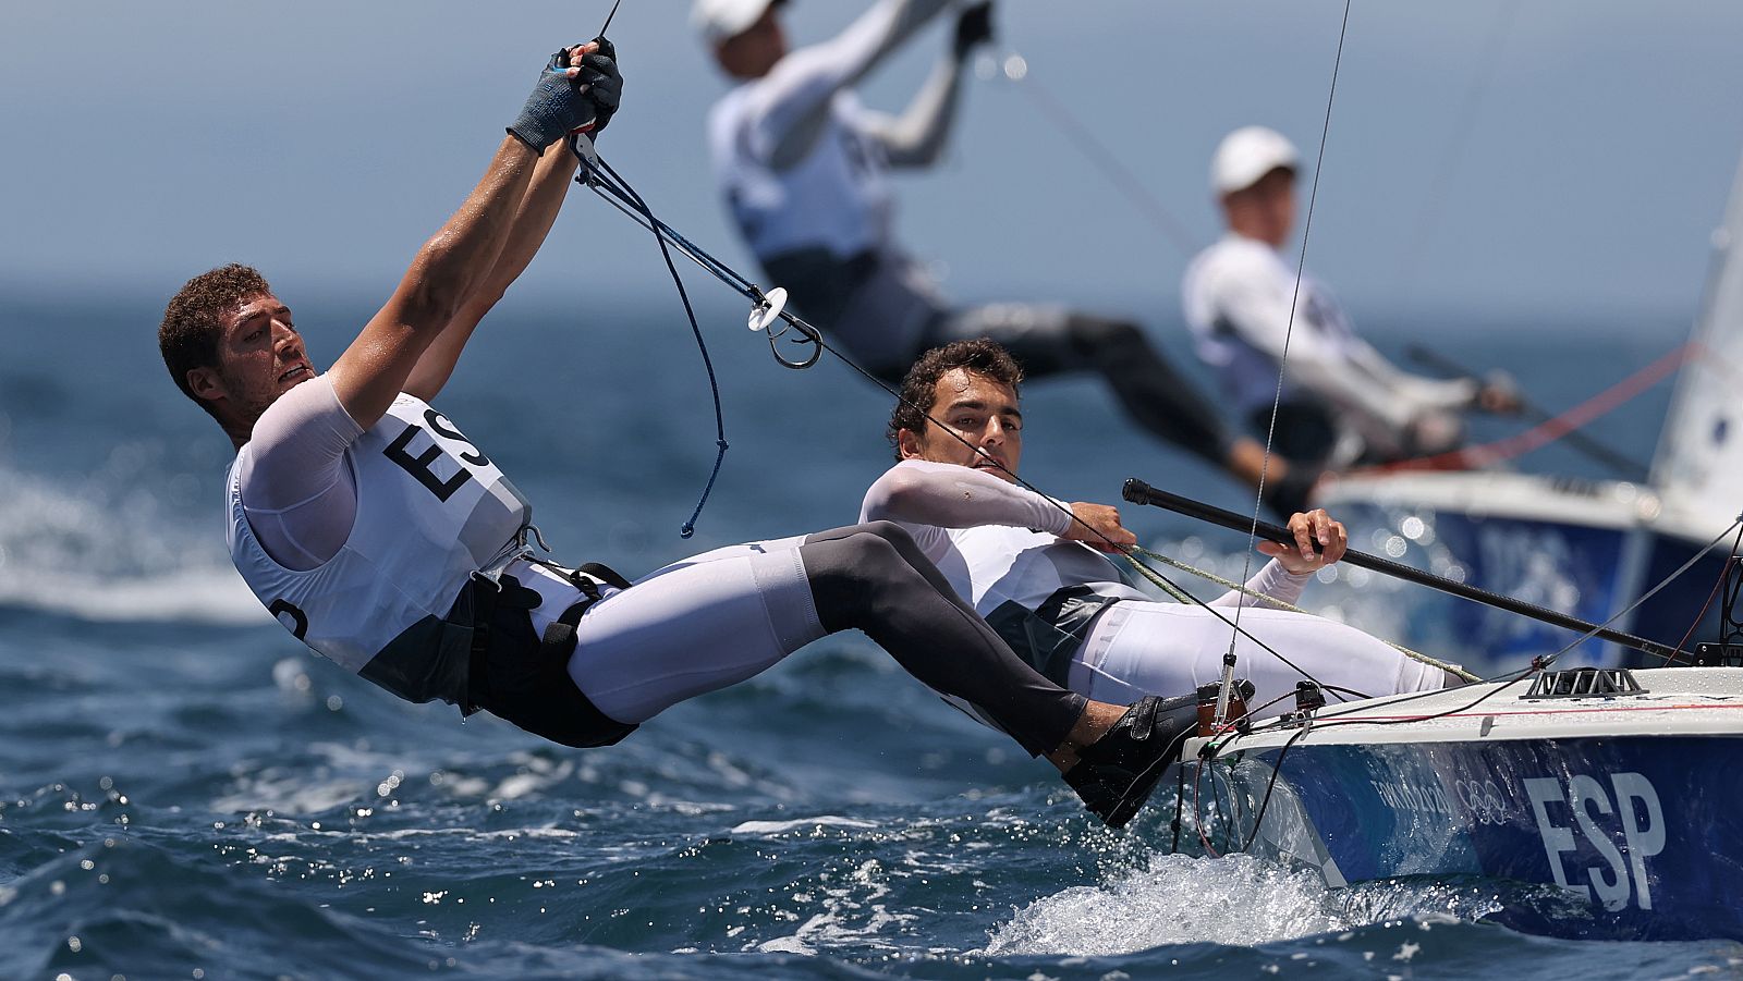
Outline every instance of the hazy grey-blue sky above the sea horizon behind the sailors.
<path fill-rule="evenodd" d="M 0 289 L 167 296 L 235 258 L 281 293 L 385 296 L 476 179 L 542 58 L 591 37 L 605 9 L 5 3 Z M 798 0 L 790 35 L 821 38 L 859 9 Z M 1225 131 L 1264 122 L 1318 153 L 1342 12 L 1330 0 L 1004 0 L 997 19 L 1028 84 L 1210 240 L 1206 160 Z M 702 143 L 723 84 L 687 14 L 682 0 L 624 2 L 612 26 L 624 110 L 601 150 L 664 220 L 749 274 Z M 1358 314 L 1563 326 L 1692 310 L 1743 148 L 1740 38 L 1743 3 L 1720 0 L 1358 0 L 1309 267 Z M 943 45 L 943 30 L 919 38 L 866 101 L 899 108 Z M 905 242 L 945 263 L 964 300 L 1067 296 L 1178 317 L 1185 256 L 1020 85 L 971 84 L 945 166 L 901 183 Z M 669 289 L 648 235 L 587 193 L 525 282 L 577 301 Z"/>

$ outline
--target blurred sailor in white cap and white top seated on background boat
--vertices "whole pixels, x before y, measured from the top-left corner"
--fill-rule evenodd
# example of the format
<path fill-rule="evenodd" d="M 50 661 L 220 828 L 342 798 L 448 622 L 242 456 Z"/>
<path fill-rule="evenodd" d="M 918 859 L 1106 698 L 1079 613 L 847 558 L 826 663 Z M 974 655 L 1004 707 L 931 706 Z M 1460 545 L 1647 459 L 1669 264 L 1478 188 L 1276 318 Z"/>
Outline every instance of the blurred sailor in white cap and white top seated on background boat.
<path fill-rule="evenodd" d="M 1297 293 L 1295 261 L 1279 249 L 1295 227 L 1299 169 L 1295 146 L 1272 129 L 1224 138 L 1210 178 L 1229 233 L 1192 260 L 1182 288 L 1197 354 L 1251 432 L 1271 430 L 1279 366 L 1272 448 L 1330 469 L 1441 453 L 1464 439 L 1459 413 L 1518 411 L 1511 382 L 1410 375 L 1356 335 L 1323 282 L 1302 274 Z"/>

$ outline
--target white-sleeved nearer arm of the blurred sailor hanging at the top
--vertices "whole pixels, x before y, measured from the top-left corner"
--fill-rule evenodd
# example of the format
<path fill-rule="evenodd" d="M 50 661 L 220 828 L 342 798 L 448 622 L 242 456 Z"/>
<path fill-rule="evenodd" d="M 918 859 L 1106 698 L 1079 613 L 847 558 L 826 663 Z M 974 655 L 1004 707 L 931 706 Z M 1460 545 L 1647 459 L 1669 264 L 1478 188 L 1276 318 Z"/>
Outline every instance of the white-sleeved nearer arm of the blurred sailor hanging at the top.
<path fill-rule="evenodd" d="M 751 152 L 784 171 L 804 160 L 830 120 L 835 92 L 899 49 L 946 0 L 878 0 L 845 31 L 788 54 L 749 96 Z"/>

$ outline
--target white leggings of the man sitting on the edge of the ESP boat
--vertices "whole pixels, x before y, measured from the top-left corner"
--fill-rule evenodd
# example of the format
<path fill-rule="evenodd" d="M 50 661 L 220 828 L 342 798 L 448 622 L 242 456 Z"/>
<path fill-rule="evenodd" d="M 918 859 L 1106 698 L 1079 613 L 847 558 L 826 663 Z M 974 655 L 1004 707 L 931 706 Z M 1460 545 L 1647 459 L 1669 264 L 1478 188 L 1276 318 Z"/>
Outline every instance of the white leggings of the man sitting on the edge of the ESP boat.
<path fill-rule="evenodd" d="M 1234 608 L 1218 608 L 1234 619 Z M 1377 638 L 1323 617 L 1248 606 L 1241 629 L 1295 662 L 1321 685 L 1363 695 L 1426 692 L 1445 673 L 1408 659 Z M 1185 603 L 1114 603 L 1096 617 L 1070 666 L 1070 688 L 1098 702 L 1133 702 L 1142 695 L 1180 695 L 1222 678 L 1222 655 L 1232 627 L 1208 610 Z M 1248 638 L 1234 648 L 1236 678 L 1253 683 L 1250 706 L 1258 718 L 1295 711 L 1295 671 Z M 1326 702 L 1354 699 L 1325 692 Z M 1271 707 L 1258 706 L 1279 699 Z"/>

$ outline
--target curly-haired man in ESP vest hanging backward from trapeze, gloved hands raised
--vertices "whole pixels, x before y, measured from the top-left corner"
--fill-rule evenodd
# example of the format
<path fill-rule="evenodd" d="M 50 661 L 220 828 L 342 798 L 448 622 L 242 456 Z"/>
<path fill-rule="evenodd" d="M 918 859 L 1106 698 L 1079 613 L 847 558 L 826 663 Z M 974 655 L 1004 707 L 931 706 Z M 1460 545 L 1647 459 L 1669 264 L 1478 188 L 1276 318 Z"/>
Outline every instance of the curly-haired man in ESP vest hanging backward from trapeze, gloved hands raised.
<path fill-rule="evenodd" d="M 894 524 L 732 545 L 631 585 L 528 547 L 526 500 L 427 404 L 544 242 L 575 171 L 563 138 L 605 129 L 619 89 L 593 44 L 553 56 L 483 179 L 324 373 L 249 267 L 206 272 L 169 301 L 164 362 L 235 444 L 237 570 L 298 639 L 389 692 L 566 746 L 617 742 L 678 700 L 861 629 L 1046 754 L 1103 821 L 1129 821 L 1190 709 L 1128 709 L 1048 681 Z"/>

